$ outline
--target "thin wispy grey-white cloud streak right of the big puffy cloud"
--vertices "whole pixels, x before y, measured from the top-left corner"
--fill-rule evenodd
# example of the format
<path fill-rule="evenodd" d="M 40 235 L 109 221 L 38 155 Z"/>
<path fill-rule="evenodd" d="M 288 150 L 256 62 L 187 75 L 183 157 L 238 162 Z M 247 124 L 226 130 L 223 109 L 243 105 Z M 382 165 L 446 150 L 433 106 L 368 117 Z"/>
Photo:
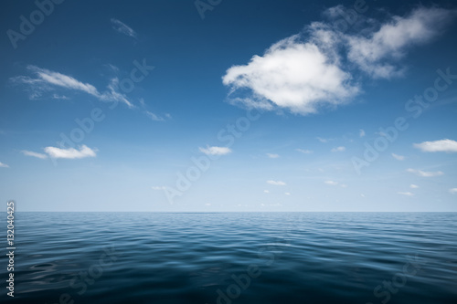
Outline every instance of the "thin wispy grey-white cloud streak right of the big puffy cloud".
<path fill-rule="evenodd" d="M 392 62 L 405 57 L 410 47 L 441 35 L 454 16 L 455 11 L 424 6 L 407 16 L 392 16 L 366 37 L 345 35 L 347 58 L 375 79 L 401 76 L 403 70 Z"/>

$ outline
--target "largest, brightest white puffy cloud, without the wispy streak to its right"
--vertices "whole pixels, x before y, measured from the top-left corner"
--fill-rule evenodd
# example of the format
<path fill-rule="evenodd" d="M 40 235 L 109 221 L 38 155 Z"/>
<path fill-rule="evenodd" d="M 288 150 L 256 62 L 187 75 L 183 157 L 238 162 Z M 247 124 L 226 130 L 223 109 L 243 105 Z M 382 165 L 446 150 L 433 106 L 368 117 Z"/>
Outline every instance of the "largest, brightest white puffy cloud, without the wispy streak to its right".
<path fill-rule="evenodd" d="M 254 56 L 244 66 L 228 68 L 224 85 L 235 91 L 248 90 L 248 98 L 235 99 L 245 106 L 293 113 L 315 113 L 322 106 L 336 106 L 356 96 L 352 77 L 332 58 L 302 35 L 282 39 Z"/>

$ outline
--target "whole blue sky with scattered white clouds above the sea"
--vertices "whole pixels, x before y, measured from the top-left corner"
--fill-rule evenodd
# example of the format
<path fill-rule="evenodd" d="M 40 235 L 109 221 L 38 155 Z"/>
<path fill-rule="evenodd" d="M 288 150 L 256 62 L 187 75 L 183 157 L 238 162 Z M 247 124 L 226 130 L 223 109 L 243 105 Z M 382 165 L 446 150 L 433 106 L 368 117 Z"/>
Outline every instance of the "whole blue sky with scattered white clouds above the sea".
<path fill-rule="evenodd" d="M 18 212 L 457 212 L 453 1 L 0 6 Z"/>

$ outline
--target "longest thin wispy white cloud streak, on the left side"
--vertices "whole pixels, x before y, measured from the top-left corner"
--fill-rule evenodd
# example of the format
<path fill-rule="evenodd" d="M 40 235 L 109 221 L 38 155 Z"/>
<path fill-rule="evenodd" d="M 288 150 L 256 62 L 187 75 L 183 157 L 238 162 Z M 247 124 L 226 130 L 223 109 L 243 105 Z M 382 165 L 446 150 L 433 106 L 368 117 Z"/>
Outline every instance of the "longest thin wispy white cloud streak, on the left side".
<path fill-rule="evenodd" d="M 125 103 L 129 108 L 133 108 L 133 104 L 127 100 L 126 96 L 118 92 L 119 79 L 111 79 L 110 83 L 107 86 L 107 90 L 101 93 L 98 89 L 89 83 L 81 82 L 80 80 L 74 79 L 71 76 L 51 71 L 46 68 L 28 66 L 27 70 L 34 74 L 36 78 L 18 76 L 11 78 L 10 80 L 15 84 L 26 84 L 29 86 L 31 90 L 31 99 L 40 97 L 44 91 L 60 88 L 84 92 L 101 101 L 121 101 Z M 58 95 L 54 94 L 53 98 L 56 96 Z"/>

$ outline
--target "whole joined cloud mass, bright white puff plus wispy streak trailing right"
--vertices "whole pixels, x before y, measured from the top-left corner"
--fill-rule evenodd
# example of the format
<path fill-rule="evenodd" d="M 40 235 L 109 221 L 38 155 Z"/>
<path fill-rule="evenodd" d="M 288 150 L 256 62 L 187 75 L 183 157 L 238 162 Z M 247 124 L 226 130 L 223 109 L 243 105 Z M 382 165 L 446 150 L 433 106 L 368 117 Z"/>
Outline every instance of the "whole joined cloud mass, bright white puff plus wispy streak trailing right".
<path fill-rule="evenodd" d="M 330 18 L 341 6 L 325 12 Z M 356 72 L 374 79 L 403 75 L 398 67 L 410 47 L 438 37 L 456 11 L 420 6 L 407 16 L 384 23 L 367 20 L 367 28 L 349 34 L 332 22 L 314 22 L 254 55 L 245 65 L 228 68 L 222 82 L 228 102 L 262 110 L 290 110 L 307 115 L 335 108 L 362 92 Z M 335 21 L 335 20 L 334 20 Z"/>

